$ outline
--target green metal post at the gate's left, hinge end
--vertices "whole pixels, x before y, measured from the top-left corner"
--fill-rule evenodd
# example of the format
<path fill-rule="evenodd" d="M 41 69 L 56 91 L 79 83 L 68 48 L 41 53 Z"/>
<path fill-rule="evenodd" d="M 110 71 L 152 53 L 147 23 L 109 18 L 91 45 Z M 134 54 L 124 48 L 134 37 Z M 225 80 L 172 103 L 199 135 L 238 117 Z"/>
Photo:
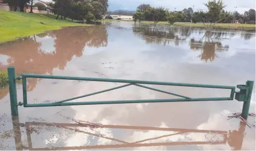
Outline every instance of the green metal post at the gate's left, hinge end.
<path fill-rule="evenodd" d="M 11 101 L 11 116 L 18 115 L 18 103 L 17 103 L 17 91 L 15 81 L 15 69 L 14 67 L 8 67 L 8 80 L 9 80 L 9 91 Z"/>

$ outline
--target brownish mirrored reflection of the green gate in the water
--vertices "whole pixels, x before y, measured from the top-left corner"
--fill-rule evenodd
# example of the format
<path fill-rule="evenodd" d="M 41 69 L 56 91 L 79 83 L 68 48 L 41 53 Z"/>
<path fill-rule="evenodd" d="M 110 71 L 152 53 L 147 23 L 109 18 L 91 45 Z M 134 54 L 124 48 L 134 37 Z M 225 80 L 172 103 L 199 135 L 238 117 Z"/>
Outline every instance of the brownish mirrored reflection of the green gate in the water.
<path fill-rule="evenodd" d="M 18 117 L 13 118 L 14 141 L 16 150 L 77 150 L 77 149 L 119 149 L 119 148 L 140 148 L 146 146 L 172 146 L 172 145 L 221 145 L 228 144 L 233 150 L 241 150 L 243 137 L 245 135 L 245 123 L 239 124 L 238 130 L 200 130 L 200 129 L 181 129 L 181 128 L 163 128 L 151 126 L 129 126 L 129 125 L 101 125 L 94 123 L 37 123 L 26 122 L 19 123 Z M 25 129 L 27 138 L 22 139 L 22 129 Z M 115 132 L 125 132 L 128 130 L 129 136 L 115 138 Z M 50 146 L 33 145 L 33 134 L 40 138 L 41 133 L 50 131 L 52 136 L 57 136 L 57 140 L 65 135 L 81 134 L 85 139 L 84 146 L 69 146 L 67 144 L 58 144 L 60 142 L 52 141 Z M 107 133 L 106 133 L 107 132 Z M 129 141 L 128 137 L 134 137 L 134 134 L 156 133 L 157 137 L 137 138 L 137 141 Z M 59 133 L 59 134 L 57 134 Z M 112 133 L 109 135 L 108 133 Z M 113 134 L 114 133 L 114 134 Z M 91 137 L 90 137 L 91 136 Z M 93 136 L 93 137 L 92 137 Z M 199 136 L 204 136 L 199 139 Z M 139 136 L 137 136 L 139 137 Z M 198 138 L 195 138 L 198 137 Z M 108 141 L 100 142 L 99 139 Z M 94 141 L 98 143 L 94 144 Z M 41 140 L 42 141 L 42 140 Z M 44 142 L 43 142 L 44 144 Z M 4 146 L 3 146 L 4 147 Z"/>

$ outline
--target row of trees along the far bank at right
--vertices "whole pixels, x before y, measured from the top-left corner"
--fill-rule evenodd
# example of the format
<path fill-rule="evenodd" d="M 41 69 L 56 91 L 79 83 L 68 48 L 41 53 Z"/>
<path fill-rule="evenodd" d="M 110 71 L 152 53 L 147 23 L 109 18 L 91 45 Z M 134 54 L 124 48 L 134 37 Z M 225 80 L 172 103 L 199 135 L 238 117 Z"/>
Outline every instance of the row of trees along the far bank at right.
<path fill-rule="evenodd" d="M 182 11 L 169 11 L 164 7 L 151 7 L 148 4 L 142 4 L 137 7 L 133 20 L 136 21 L 153 21 L 155 24 L 159 21 L 168 21 L 170 24 L 175 22 L 203 22 L 203 23 L 232 23 L 238 20 L 239 23 L 255 23 L 255 10 L 250 9 L 244 14 L 225 11 L 226 5 L 221 0 L 212 0 L 204 4 L 208 11 L 204 12 L 194 10 L 189 7 Z"/>

